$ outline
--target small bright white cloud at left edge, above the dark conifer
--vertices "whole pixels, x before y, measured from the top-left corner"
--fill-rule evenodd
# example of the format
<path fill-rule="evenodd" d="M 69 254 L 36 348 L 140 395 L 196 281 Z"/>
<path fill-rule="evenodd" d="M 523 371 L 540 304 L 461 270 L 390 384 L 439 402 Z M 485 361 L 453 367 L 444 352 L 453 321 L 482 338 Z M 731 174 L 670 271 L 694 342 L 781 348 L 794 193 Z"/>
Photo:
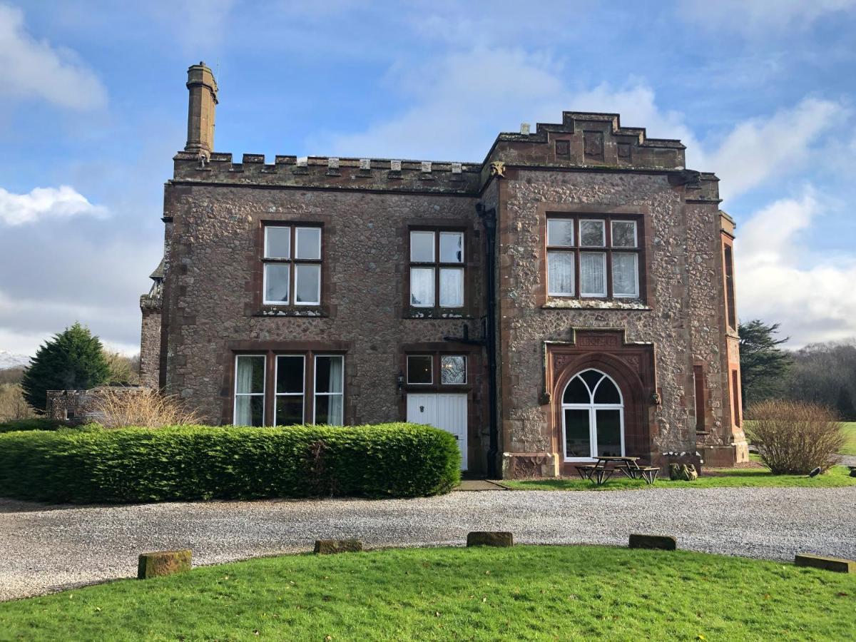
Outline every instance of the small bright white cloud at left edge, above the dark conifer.
<path fill-rule="evenodd" d="M 35 223 L 42 218 L 104 217 L 107 210 L 92 205 L 74 187 L 35 187 L 28 194 L 9 193 L 0 187 L 0 222 L 7 225 Z"/>

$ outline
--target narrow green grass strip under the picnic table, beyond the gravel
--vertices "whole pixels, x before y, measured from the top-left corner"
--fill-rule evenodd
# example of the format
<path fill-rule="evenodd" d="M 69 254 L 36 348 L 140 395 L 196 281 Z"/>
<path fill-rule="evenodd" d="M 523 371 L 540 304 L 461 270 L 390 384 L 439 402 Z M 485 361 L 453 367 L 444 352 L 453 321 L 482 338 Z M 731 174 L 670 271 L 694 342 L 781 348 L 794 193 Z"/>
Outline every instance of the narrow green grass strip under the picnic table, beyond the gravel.
<path fill-rule="evenodd" d="M 704 470 L 704 468 L 702 469 Z M 649 486 L 641 479 L 627 479 L 621 473 L 609 479 L 603 486 L 596 486 L 580 478 L 564 479 L 508 479 L 502 484 L 514 490 L 645 490 L 649 488 L 723 488 L 749 486 L 803 486 L 805 488 L 834 488 L 838 486 L 856 486 L 856 478 L 850 477 L 850 471 L 843 466 L 835 466 L 822 475 L 809 478 L 805 475 L 774 475 L 767 468 L 721 468 L 717 473 L 703 475 L 693 482 L 672 481 L 668 476 L 657 479 Z"/>

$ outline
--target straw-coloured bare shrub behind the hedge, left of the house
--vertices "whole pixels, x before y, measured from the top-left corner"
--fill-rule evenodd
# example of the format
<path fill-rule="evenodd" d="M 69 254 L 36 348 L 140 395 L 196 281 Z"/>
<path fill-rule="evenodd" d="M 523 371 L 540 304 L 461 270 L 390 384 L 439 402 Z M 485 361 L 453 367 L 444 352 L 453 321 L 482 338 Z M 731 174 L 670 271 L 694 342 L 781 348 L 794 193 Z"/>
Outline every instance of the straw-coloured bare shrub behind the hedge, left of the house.
<path fill-rule="evenodd" d="M 104 428 L 199 424 L 199 415 L 188 410 L 177 396 L 151 388 L 97 389 L 92 392 L 89 412 Z"/>

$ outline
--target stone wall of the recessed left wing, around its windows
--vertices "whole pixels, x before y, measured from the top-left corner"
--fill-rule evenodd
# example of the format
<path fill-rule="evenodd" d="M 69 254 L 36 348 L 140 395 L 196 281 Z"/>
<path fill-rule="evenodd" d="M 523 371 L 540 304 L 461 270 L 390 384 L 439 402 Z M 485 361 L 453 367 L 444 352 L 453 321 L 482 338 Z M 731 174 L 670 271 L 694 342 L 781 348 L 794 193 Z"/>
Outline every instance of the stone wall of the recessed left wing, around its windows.
<path fill-rule="evenodd" d="M 231 421 L 236 348 L 314 342 L 346 349 L 346 417 L 361 424 L 405 417 L 396 377 L 408 344 L 449 346 L 443 337 L 462 336 L 464 326 L 470 336 L 481 336 L 482 232 L 472 197 L 174 182 L 165 203 L 165 379 L 169 392 L 211 423 Z M 312 317 L 259 305 L 260 230 L 263 222 L 283 221 L 324 228 L 324 301 Z M 410 224 L 466 228 L 470 308 L 464 318 L 419 318 L 421 312 L 413 315 L 407 307 Z M 473 355 L 467 386 L 475 401 L 469 437 L 474 468 L 486 450 L 481 352 Z"/>

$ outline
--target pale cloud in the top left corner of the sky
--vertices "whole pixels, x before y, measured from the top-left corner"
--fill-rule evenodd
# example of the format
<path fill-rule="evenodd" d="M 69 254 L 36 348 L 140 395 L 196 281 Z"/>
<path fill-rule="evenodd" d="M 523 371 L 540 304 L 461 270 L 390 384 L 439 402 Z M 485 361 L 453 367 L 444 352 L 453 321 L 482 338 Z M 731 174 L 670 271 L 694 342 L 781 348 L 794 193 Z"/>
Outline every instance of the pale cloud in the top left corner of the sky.
<path fill-rule="evenodd" d="M 101 81 L 74 52 L 34 39 L 21 9 L 7 4 L 0 4 L 0 96 L 42 98 L 74 110 L 107 102 Z"/>

